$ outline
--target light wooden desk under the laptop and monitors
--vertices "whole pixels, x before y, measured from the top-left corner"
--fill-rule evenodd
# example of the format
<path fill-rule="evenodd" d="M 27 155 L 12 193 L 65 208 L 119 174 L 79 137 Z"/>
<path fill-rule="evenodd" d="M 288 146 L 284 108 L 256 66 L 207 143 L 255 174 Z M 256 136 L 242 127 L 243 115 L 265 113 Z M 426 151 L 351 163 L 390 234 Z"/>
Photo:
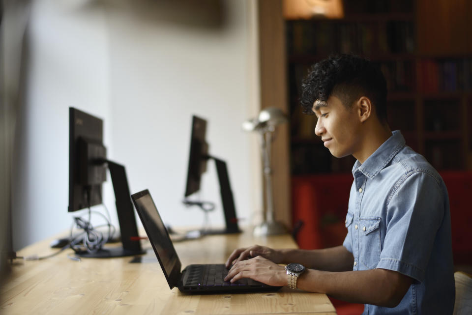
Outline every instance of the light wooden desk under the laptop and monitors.
<path fill-rule="evenodd" d="M 144 233 L 143 233 L 144 234 Z M 51 239 L 21 250 L 19 256 L 53 253 Z M 294 248 L 289 235 L 256 238 L 249 232 L 206 236 L 175 243 L 182 266 L 222 263 L 237 247 L 254 243 L 274 248 Z M 148 242 L 142 263 L 124 258 L 67 258 L 66 250 L 44 260 L 16 260 L 1 287 L 2 314 L 162 314 L 335 315 L 325 294 L 289 290 L 274 293 L 187 295 L 172 290 Z M 19 262 L 18 262 L 19 261 Z"/>

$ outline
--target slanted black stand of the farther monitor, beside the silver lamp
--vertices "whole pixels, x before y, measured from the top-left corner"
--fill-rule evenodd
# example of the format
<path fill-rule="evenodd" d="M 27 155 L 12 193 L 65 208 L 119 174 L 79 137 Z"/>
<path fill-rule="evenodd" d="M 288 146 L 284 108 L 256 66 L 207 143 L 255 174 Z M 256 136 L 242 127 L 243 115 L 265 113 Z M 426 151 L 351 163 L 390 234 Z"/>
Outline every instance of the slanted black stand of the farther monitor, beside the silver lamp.
<path fill-rule="evenodd" d="M 235 200 L 233 199 L 233 192 L 231 191 L 230 177 L 228 175 L 226 162 L 213 156 L 208 156 L 208 158 L 215 161 L 218 181 L 220 183 L 221 202 L 223 203 L 225 213 L 226 229 L 209 229 L 205 231 L 205 234 L 240 233 L 241 230 L 237 225 Z"/>

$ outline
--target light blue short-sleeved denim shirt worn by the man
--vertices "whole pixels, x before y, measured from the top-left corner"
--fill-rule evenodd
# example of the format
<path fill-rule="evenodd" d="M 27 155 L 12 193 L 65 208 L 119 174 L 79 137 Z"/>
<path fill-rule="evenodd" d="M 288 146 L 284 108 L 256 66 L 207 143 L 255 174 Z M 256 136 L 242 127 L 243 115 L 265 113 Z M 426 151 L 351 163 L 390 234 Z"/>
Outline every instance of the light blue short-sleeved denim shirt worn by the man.
<path fill-rule="evenodd" d="M 353 167 L 343 246 L 353 270 L 383 268 L 413 278 L 395 308 L 366 304 L 364 315 L 450 315 L 455 285 L 449 198 L 441 176 L 394 131 Z"/>

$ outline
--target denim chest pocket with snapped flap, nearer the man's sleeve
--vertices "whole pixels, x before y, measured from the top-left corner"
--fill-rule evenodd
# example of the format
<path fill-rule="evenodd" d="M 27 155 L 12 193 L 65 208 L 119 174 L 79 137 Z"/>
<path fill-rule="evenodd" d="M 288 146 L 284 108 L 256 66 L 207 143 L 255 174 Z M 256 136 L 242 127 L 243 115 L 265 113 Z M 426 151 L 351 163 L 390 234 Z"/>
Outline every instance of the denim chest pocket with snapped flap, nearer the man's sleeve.
<path fill-rule="evenodd" d="M 359 269 L 374 269 L 382 250 L 379 217 L 359 218 Z"/>

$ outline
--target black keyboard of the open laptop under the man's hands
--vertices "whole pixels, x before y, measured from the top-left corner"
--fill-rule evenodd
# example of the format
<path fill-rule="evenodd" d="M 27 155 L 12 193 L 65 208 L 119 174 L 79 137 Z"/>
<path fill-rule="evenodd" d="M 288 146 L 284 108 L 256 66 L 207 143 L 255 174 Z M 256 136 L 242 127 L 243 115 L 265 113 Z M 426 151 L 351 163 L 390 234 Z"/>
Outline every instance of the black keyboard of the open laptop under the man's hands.
<path fill-rule="evenodd" d="M 252 279 L 240 279 L 231 283 L 224 281 L 228 269 L 224 264 L 191 265 L 187 268 L 185 286 L 261 286 Z"/>

